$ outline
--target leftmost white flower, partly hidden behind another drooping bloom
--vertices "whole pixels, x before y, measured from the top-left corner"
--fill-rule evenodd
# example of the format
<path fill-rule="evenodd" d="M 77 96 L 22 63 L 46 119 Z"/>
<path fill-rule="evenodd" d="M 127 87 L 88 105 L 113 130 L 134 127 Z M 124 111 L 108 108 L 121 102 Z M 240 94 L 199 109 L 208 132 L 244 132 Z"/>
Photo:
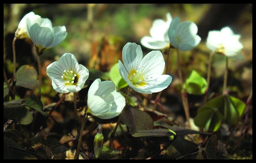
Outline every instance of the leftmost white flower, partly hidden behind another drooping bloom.
<path fill-rule="evenodd" d="M 27 13 L 20 21 L 17 30 L 15 31 L 15 37 L 16 38 L 27 38 L 27 30 L 26 30 L 26 21 L 27 18 L 31 21 L 33 24 L 37 19 L 40 19 L 41 16 L 35 15 L 34 12 Z"/>

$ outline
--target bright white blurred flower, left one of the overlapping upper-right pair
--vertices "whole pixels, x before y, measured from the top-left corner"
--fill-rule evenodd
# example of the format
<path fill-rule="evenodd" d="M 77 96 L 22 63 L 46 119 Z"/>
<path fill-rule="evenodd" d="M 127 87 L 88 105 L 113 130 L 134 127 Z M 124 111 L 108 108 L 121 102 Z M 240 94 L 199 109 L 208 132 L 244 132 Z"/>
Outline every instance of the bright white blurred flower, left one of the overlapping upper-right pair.
<path fill-rule="evenodd" d="M 150 36 L 144 36 L 140 42 L 143 46 L 149 49 L 164 49 L 166 48 L 170 41 L 168 38 L 168 28 L 172 21 L 172 16 L 170 13 L 166 14 L 167 21 L 162 19 L 154 20 L 152 27 L 150 29 Z"/>

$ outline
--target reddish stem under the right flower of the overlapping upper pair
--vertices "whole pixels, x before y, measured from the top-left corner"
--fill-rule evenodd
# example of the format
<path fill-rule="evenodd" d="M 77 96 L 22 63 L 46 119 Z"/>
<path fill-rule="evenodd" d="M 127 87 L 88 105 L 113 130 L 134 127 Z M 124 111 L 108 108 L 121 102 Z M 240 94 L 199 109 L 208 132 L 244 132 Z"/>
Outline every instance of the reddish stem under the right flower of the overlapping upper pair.
<path fill-rule="evenodd" d="M 180 78 L 180 81 L 181 81 L 181 99 L 182 99 L 182 105 L 183 105 L 183 108 L 184 108 L 184 112 L 185 112 L 185 115 L 186 115 L 186 120 L 187 120 L 187 127 L 190 128 L 190 122 L 189 122 L 189 119 L 190 119 L 190 115 L 189 115 L 189 106 L 188 106 L 188 99 L 187 99 L 187 93 L 183 87 L 183 79 L 182 79 L 182 73 L 181 73 L 181 60 L 180 60 L 180 52 L 179 52 L 179 49 L 176 49 L 177 50 L 177 60 L 178 60 L 178 71 L 179 71 L 179 78 Z"/>

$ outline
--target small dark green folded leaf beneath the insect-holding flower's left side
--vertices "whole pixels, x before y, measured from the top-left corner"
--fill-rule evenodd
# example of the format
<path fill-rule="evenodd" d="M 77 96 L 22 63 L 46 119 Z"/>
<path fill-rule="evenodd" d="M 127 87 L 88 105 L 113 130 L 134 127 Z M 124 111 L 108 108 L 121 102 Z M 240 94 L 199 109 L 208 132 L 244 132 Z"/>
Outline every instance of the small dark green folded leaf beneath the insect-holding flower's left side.
<path fill-rule="evenodd" d="M 43 109 L 43 104 L 42 104 L 41 100 L 34 94 L 30 94 L 28 96 L 28 98 L 25 100 L 25 102 L 23 103 L 23 105 L 26 105 L 28 107 L 31 107 L 31 108 L 37 110 L 38 112 L 40 112 L 45 117 L 48 116 L 48 114 L 46 114 L 42 110 Z"/>

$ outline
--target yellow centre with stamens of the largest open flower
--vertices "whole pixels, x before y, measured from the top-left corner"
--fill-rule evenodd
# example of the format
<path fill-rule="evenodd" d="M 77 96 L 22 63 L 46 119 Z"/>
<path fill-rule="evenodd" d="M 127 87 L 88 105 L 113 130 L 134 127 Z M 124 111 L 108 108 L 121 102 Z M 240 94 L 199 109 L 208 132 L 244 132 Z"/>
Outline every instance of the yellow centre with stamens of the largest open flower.
<path fill-rule="evenodd" d="M 131 70 L 127 77 L 135 87 L 146 85 L 144 74 L 139 73 L 136 70 Z"/>

